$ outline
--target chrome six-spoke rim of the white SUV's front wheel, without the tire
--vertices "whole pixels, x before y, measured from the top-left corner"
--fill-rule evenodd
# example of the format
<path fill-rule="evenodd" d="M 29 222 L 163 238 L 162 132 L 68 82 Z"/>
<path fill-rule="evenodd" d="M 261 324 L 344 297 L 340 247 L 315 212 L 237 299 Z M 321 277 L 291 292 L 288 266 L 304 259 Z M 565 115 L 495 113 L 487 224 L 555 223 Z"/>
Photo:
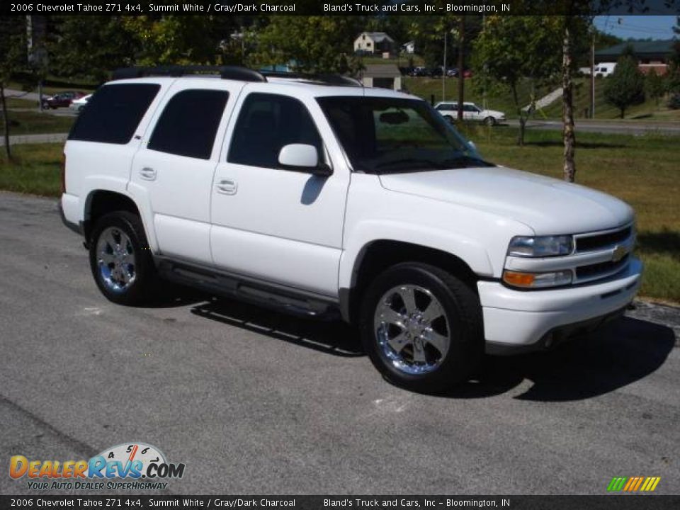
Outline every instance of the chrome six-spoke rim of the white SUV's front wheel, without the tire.
<path fill-rule="evenodd" d="M 382 355 L 404 373 L 430 373 L 448 353 L 446 312 L 429 290 L 418 285 L 399 285 L 382 295 L 373 327 Z"/>

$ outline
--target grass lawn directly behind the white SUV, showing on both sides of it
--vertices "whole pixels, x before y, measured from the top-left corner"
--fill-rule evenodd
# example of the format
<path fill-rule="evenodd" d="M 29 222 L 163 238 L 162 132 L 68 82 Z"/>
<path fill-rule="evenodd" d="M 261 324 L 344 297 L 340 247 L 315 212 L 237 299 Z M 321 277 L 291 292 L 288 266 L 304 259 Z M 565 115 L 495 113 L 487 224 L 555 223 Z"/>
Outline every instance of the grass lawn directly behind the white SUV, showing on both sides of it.
<path fill-rule="evenodd" d="M 473 125 L 467 135 L 492 162 L 560 179 L 559 132 L 531 131 L 525 147 L 514 128 Z M 680 302 L 680 137 L 577 134 L 577 183 L 617 196 L 638 215 L 641 295 Z M 16 145 L 16 162 L 0 157 L 0 188 L 58 196 L 61 144 Z"/>

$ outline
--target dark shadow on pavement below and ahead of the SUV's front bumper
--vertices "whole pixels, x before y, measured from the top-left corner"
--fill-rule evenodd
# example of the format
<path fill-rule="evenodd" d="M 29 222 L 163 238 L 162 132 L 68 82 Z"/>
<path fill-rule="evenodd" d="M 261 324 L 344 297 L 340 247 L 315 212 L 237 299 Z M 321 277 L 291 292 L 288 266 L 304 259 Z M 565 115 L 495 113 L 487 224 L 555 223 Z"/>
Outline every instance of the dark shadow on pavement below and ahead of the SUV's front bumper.
<path fill-rule="evenodd" d="M 589 399 L 654 373 L 675 345 L 673 329 L 623 317 L 555 351 L 487 356 L 472 380 L 441 396 L 491 397 L 531 380 L 533 386 L 515 398 L 536 402 Z"/>

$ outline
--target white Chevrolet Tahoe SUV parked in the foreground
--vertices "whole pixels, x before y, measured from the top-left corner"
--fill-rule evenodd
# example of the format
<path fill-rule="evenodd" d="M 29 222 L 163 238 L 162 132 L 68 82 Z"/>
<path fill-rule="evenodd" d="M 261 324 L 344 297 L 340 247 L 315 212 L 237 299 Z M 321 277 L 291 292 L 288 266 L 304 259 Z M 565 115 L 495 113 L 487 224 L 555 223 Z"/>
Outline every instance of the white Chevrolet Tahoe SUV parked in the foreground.
<path fill-rule="evenodd" d="M 389 380 L 430 391 L 638 290 L 621 200 L 485 161 L 414 96 L 220 72 L 111 81 L 69 135 L 62 215 L 109 300 L 142 302 L 160 276 L 339 313 Z"/>

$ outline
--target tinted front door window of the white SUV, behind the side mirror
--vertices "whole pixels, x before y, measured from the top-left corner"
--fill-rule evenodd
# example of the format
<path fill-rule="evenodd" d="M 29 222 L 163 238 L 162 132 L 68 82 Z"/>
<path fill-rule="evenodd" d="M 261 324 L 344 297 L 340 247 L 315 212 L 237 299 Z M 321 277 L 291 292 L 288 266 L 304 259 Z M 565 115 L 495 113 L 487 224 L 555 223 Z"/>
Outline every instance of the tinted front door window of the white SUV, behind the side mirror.
<path fill-rule="evenodd" d="M 293 143 L 314 145 L 323 159 L 321 137 L 305 105 L 288 96 L 250 94 L 234 128 L 228 161 L 278 168 L 281 147 Z"/>

